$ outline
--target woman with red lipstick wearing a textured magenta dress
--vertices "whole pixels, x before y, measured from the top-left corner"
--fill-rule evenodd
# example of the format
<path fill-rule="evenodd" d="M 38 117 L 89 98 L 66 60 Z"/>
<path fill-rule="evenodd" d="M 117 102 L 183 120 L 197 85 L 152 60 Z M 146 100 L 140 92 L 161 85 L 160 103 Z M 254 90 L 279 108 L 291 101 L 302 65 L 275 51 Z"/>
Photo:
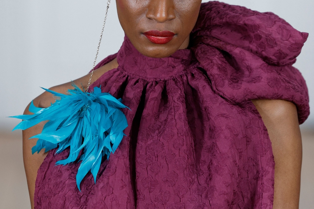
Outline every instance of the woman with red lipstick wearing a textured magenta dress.
<path fill-rule="evenodd" d="M 23 131 L 32 208 L 298 208 L 299 124 L 309 106 L 291 65 L 308 34 L 273 13 L 219 2 L 116 4 L 125 40 L 95 67 L 90 89 L 132 110 L 123 110 L 127 136 L 79 192 L 80 162 L 55 166 L 68 149 L 32 155 L 28 139 L 43 123 Z M 74 83 L 83 89 L 88 79 Z M 33 102 L 54 101 L 45 92 Z"/>

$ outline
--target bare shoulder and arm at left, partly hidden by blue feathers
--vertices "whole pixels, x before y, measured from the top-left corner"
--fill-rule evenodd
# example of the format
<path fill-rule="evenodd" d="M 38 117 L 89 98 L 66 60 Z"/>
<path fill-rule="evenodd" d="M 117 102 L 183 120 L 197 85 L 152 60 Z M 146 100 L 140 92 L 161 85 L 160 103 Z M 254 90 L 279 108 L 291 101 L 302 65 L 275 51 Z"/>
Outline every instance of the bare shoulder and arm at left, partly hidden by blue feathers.
<path fill-rule="evenodd" d="M 113 68 L 116 68 L 117 66 L 118 66 L 118 63 L 116 62 L 116 59 L 114 59 L 113 61 L 107 63 L 106 65 L 96 69 L 93 73 L 91 83 L 97 80 L 105 72 Z M 74 80 L 73 82 L 81 89 L 83 87 L 86 89 L 89 76 L 90 75 L 87 74 L 83 76 L 82 78 L 78 78 Z M 83 84 L 83 87 L 81 86 L 81 83 Z M 52 87 L 50 89 L 58 93 L 65 94 L 68 89 L 73 89 L 73 87 L 71 83 L 68 82 L 68 83 L 64 83 L 64 84 Z M 34 105 L 36 107 L 41 107 L 41 108 L 49 107 L 50 104 L 54 102 L 55 102 L 55 99 L 52 97 L 52 94 L 48 92 L 42 93 L 41 95 L 39 95 L 33 100 Z M 27 114 L 27 115 L 32 114 L 31 112 L 28 111 L 29 106 L 30 104 L 26 107 L 24 114 Z M 29 138 L 36 134 L 41 133 L 44 125 L 45 125 L 45 122 L 41 122 L 23 131 L 23 160 L 24 160 L 24 168 L 25 168 L 25 173 L 26 173 L 28 190 L 30 194 L 30 203 L 31 203 L 32 208 L 34 208 L 34 192 L 35 192 L 35 181 L 37 177 L 37 171 L 41 163 L 44 161 L 47 153 L 45 153 L 44 150 L 41 150 L 39 154 L 34 153 L 34 155 L 32 155 L 31 148 L 35 146 L 37 139 L 29 139 Z"/>

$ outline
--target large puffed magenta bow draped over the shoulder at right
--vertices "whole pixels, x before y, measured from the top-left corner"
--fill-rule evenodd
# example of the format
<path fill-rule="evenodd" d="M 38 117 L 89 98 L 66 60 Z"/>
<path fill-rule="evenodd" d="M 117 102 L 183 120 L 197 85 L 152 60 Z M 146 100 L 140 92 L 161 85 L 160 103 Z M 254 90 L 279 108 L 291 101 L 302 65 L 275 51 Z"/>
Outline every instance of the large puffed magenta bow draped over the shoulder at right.
<path fill-rule="evenodd" d="M 220 2 L 203 3 L 191 34 L 192 50 L 214 91 L 230 102 L 284 99 L 308 117 L 309 97 L 301 73 L 292 66 L 308 34 L 273 13 Z"/>

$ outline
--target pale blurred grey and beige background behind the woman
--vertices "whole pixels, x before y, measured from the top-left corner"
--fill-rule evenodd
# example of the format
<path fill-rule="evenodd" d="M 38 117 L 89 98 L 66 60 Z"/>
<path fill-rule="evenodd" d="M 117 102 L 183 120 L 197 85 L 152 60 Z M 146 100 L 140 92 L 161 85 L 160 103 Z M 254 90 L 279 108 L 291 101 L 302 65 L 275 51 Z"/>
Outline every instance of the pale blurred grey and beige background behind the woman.
<path fill-rule="evenodd" d="M 295 67 L 306 79 L 314 110 L 314 1 L 224 2 L 260 12 L 271 11 L 296 29 L 310 33 Z M 0 176 L 5 176 L 0 178 L 0 208 L 29 208 L 21 132 L 13 135 L 7 132 L 19 120 L 5 117 L 22 114 L 31 99 L 43 92 L 40 86 L 49 88 L 88 73 L 105 9 L 106 0 L 0 0 Z M 118 51 L 123 37 L 112 0 L 98 61 Z M 312 127 L 314 114 L 301 126 L 303 130 Z M 303 162 L 307 164 L 302 167 L 300 206 L 314 208 L 314 140 L 311 134 L 304 136 Z"/>

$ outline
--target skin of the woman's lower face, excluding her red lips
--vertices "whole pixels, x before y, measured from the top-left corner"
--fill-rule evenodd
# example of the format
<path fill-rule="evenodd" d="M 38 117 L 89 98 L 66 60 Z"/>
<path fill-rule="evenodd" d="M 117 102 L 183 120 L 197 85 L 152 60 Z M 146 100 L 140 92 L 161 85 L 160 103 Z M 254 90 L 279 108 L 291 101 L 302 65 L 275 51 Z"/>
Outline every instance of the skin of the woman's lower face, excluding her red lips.
<path fill-rule="evenodd" d="M 149 57 L 167 57 L 186 49 L 201 0 L 136 1 L 116 0 L 120 24 L 133 46 Z M 176 35 L 166 44 L 154 44 L 143 33 L 168 30 Z"/>

